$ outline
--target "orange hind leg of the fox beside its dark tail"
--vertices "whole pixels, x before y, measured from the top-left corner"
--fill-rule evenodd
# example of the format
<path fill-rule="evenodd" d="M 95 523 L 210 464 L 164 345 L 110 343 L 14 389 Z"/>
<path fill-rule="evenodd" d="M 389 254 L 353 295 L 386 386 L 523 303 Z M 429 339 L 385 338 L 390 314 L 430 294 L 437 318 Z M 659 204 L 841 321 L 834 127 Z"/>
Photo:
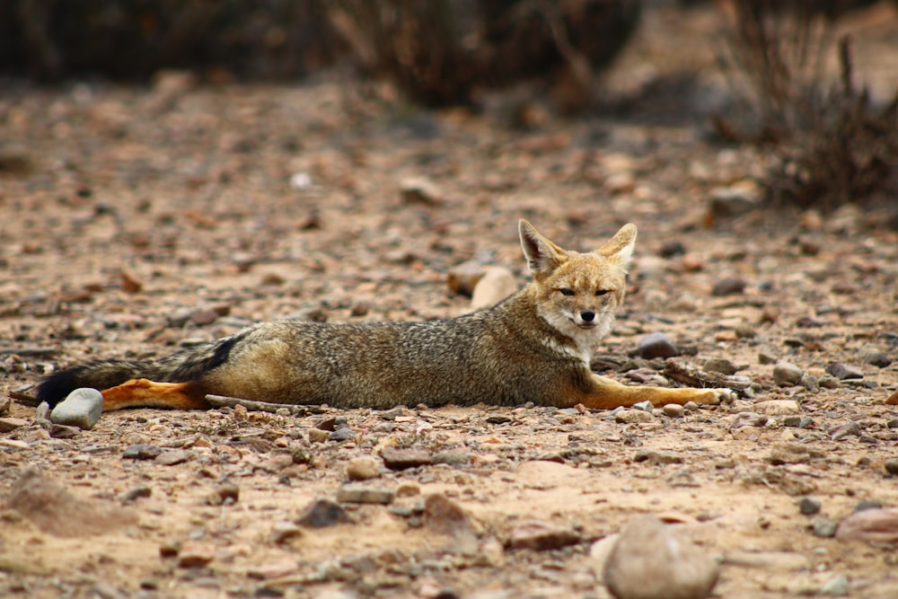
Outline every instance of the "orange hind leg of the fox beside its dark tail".
<path fill-rule="evenodd" d="M 202 386 L 188 383 L 155 383 L 132 379 L 102 391 L 103 411 L 123 408 L 171 408 L 173 410 L 208 410 Z"/>

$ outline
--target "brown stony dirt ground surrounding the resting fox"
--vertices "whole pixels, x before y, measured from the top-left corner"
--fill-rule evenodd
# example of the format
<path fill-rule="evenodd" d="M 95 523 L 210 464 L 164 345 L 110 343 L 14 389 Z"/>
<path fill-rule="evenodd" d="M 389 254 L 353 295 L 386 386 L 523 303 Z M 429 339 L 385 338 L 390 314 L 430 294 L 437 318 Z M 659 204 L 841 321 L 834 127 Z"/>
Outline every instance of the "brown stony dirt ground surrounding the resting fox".
<path fill-rule="evenodd" d="M 0 432 L 0 595 L 602 598 L 601 541 L 652 513 L 723 556 L 717 596 L 898 596 L 894 544 L 832 536 L 858 507 L 898 506 L 898 233 L 854 207 L 707 218 L 713 189 L 751 192 L 763 160 L 708 140 L 701 110 L 721 91 L 713 40 L 695 32 L 709 19 L 647 14 L 608 77 L 635 92 L 660 66 L 704 60 L 678 108 L 644 97 L 625 117 L 568 120 L 536 105 L 524 129 L 507 96 L 483 114 L 429 112 L 339 75 L 8 87 L 3 396 L 54 368 L 161 356 L 260 320 L 464 313 L 469 298 L 446 286 L 460 264 L 526 280 L 521 217 L 583 250 L 638 225 L 598 371 L 678 384 L 664 360 L 638 358 L 660 332 L 673 359 L 726 359 L 752 387 L 629 422 L 532 406 L 126 410 L 71 438 L 13 401 L 5 416 L 24 422 Z M 894 8 L 849 26 L 858 56 L 880 58 L 859 75 L 894 89 Z M 408 177 L 435 197 L 404 198 Z M 802 380 L 775 382 L 778 360 Z M 414 459 L 385 467 L 391 447 Z M 386 504 L 342 494 L 364 456 L 383 467 L 349 490 L 386 490 Z M 29 467 L 58 488 L 11 506 Z M 806 497 L 819 513 L 802 513 Z M 339 521 L 297 524 L 321 498 L 340 499 Z"/>

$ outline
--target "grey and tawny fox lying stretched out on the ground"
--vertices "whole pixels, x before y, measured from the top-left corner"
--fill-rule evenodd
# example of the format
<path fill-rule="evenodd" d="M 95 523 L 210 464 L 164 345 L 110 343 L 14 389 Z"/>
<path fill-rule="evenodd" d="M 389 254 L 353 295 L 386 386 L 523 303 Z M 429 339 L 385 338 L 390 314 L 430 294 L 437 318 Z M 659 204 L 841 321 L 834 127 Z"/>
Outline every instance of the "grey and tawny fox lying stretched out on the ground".
<path fill-rule="evenodd" d="M 101 391 L 103 411 L 209 409 L 207 394 L 377 410 L 733 399 L 729 389 L 634 386 L 591 370 L 624 300 L 636 225 L 584 253 L 563 250 L 525 220 L 518 233 L 532 280 L 479 311 L 426 322 L 260 322 L 167 357 L 59 370 L 40 382 L 37 400 L 52 407 L 82 387 Z"/>

